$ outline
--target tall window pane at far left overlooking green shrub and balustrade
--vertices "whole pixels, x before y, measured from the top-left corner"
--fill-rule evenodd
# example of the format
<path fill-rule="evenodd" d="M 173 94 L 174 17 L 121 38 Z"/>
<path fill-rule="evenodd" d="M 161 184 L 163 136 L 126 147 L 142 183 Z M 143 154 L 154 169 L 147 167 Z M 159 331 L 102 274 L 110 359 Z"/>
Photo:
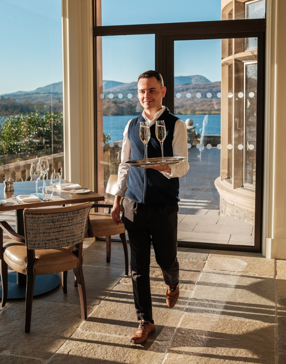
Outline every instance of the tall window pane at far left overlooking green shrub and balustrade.
<path fill-rule="evenodd" d="M 0 1 L 0 32 L 0 182 L 41 156 L 63 177 L 61 2 Z"/>

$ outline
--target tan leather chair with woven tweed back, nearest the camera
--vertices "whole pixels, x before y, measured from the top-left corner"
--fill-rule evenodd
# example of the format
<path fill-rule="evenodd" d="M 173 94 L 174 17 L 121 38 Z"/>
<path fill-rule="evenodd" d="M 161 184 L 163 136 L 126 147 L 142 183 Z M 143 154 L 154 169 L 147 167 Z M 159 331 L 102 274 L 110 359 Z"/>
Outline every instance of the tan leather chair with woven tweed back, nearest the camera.
<path fill-rule="evenodd" d="M 40 209 L 24 209 L 25 236 L 16 234 L 6 221 L 0 222 L 0 262 L 2 301 L 7 300 L 7 265 L 27 275 L 25 332 L 31 329 L 35 276 L 74 270 L 79 288 L 82 319 L 87 318 L 83 277 L 83 240 L 92 203 Z M 3 230 L 13 239 L 3 246 Z M 64 277 L 62 275 L 62 281 Z M 66 281 L 66 277 L 65 277 Z"/>

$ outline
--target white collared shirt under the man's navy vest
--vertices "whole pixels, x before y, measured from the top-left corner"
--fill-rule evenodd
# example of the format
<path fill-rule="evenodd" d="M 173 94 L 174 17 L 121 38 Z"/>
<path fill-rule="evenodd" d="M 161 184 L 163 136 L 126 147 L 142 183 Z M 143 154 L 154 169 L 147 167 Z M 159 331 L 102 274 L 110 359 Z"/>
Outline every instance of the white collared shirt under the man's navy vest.
<path fill-rule="evenodd" d="M 149 123 L 149 126 L 155 124 L 156 120 L 163 114 L 165 111 L 165 106 L 162 107 L 159 111 L 156 112 L 154 118 L 152 120 L 148 119 L 145 115 L 145 112 L 142 112 L 143 118 Z M 127 191 L 127 176 L 129 172 L 130 166 L 126 164 L 127 161 L 130 161 L 130 153 L 131 153 L 131 145 L 130 140 L 128 139 L 128 128 L 131 120 L 128 121 L 124 132 L 123 132 L 123 143 L 121 150 L 121 163 L 118 168 L 118 190 L 116 191 L 116 195 L 121 197 L 125 197 L 125 192 Z M 172 140 L 172 149 L 174 157 L 187 157 L 188 158 L 188 146 L 187 146 L 187 127 L 186 124 L 178 119 L 175 123 L 174 135 Z M 174 178 L 174 177 L 182 177 L 187 173 L 189 169 L 188 159 L 185 159 L 183 162 L 178 164 L 169 165 L 171 169 L 171 173 L 161 172 L 166 178 Z M 136 167 L 131 167 L 136 168 Z"/>

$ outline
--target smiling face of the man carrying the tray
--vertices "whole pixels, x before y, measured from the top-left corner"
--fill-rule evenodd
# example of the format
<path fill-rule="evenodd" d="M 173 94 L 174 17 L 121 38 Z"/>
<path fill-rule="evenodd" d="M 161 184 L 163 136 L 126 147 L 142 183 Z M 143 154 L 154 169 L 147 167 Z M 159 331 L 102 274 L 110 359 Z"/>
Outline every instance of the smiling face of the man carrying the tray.
<path fill-rule="evenodd" d="M 140 104 L 146 111 L 157 112 L 162 108 L 162 98 L 166 94 L 166 87 L 161 87 L 155 77 L 140 78 L 137 84 Z"/>

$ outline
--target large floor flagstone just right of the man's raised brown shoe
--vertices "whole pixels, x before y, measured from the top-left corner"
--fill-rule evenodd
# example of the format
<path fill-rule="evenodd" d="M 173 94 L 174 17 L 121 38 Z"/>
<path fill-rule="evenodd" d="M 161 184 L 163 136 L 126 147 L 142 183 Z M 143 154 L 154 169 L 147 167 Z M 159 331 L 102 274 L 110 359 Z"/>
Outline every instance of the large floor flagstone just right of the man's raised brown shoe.
<path fill-rule="evenodd" d="M 187 312 L 275 323 L 275 285 L 268 277 L 202 273 Z"/>

